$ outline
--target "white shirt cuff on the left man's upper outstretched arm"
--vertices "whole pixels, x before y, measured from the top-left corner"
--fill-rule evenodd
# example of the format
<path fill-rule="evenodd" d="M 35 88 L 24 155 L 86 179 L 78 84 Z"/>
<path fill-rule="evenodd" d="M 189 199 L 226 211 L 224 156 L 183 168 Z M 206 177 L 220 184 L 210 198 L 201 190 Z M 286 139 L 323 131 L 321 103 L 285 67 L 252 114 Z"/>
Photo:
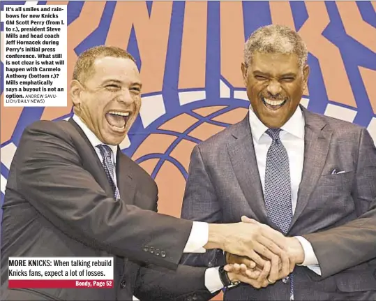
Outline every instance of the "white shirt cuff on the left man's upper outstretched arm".
<path fill-rule="evenodd" d="M 183 253 L 205 253 L 204 245 L 209 242 L 209 223 L 193 221 L 192 230 Z"/>

